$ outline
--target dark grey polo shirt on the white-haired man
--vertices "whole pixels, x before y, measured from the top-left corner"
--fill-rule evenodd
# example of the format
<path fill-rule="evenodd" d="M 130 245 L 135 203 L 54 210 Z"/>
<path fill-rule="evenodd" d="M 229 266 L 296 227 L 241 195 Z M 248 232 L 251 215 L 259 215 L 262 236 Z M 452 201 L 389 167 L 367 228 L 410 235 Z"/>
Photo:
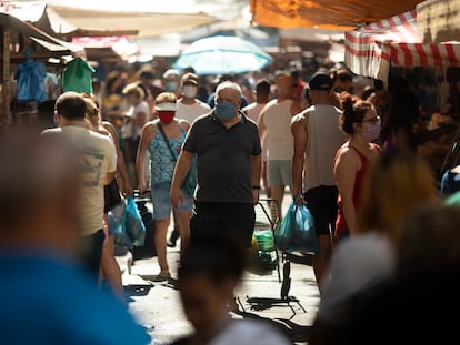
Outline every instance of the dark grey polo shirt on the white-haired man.
<path fill-rule="evenodd" d="M 183 149 L 198 154 L 197 202 L 253 203 L 251 156 L 262 150 L 257 124 L 240 115 L 227 129 L 212 111 L 190 128 Z"/>

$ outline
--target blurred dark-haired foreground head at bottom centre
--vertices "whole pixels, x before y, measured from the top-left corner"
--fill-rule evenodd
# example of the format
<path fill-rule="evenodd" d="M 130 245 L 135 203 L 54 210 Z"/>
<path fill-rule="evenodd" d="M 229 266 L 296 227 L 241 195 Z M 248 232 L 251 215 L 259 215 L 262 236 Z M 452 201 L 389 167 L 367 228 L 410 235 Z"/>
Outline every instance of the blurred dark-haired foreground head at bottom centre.
<path fill-rule="evenodd" d="M 197 235 L 184 248 L 178 287 L 184 313 L 198 333 L 207 334 L 221 322 L 244 267 L 244 251 L 224 235 Z"/>

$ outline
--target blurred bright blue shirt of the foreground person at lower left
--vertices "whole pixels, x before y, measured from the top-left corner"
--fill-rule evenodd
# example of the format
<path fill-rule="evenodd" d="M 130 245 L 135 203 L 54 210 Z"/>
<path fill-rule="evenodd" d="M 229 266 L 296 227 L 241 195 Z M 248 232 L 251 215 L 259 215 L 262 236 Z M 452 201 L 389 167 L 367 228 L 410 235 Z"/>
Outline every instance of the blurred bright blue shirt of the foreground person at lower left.
<path fill-rule="evenodd" d="M 151 337 L 79 266 L 44 251 L 0 254 L 1 343 L 134 345 Z"/>

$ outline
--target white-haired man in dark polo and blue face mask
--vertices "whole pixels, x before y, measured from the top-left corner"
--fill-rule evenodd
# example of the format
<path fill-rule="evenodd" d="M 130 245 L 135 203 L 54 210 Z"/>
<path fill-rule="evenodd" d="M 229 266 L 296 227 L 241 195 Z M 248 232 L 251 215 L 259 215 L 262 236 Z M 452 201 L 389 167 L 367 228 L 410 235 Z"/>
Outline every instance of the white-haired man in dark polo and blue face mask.
<path fill-rule="evenodd" d="M 198 187 L 190 222 L 198 234 L 221 233 L 249 247 L 259 201 L 261 146 L 254 122 L 240 111 L 241 89 L 226 81 L 216 91 L 216 108 L 197 119 L 183 143 L 171 185 L 171 201 L 182 201 L 180 186 L 198 158 Z"/>

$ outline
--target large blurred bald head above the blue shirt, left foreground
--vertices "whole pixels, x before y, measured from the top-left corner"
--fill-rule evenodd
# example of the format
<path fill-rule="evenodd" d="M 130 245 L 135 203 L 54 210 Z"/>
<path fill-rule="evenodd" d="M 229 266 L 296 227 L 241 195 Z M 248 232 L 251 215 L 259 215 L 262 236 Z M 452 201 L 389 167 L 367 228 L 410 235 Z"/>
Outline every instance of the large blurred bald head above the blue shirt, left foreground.
<path fill-rule="evenodd" d="M 59 138 L 0 138 L 0 251 L 21 247 L 73 254 L 79 239 L 79 164 Z"/>

